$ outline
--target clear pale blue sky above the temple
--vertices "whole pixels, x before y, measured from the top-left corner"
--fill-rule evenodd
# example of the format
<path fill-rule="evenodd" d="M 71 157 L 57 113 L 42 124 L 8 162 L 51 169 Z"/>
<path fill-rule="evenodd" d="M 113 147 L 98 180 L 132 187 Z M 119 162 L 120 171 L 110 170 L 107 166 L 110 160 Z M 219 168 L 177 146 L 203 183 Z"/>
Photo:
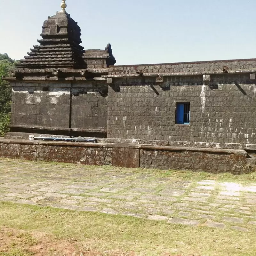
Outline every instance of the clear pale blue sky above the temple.
<path fill-rule="evenodd" d="M 23 59 L 61 0 L 1 0 L 0 53 Z M 255 0 L 67 0 L 85 49 L 116 65 L 256 58 Z"/>

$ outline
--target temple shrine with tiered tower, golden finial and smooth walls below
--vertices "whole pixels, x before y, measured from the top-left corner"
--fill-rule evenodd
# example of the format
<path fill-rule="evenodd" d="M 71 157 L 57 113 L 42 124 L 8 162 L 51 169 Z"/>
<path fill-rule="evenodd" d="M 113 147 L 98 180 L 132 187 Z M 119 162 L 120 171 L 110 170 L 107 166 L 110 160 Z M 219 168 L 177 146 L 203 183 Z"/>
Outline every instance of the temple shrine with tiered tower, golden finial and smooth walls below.
<path fill-rule="evenodd" d="M 12 86 L 11 132 L 107 136 L 108 85 L 103 75 L 116 63 L 111 45 L 84 50 L 81 29 L 62 10 L 44 21 L 40 45 L 33 46 L 5 79 Z"/>

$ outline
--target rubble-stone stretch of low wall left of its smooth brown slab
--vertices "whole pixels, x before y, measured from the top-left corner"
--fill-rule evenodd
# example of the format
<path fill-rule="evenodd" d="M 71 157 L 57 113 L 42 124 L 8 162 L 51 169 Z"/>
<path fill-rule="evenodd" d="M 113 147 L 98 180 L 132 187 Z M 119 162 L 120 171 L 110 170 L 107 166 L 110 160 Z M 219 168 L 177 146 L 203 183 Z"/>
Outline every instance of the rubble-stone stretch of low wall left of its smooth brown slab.
<path fill-rule="evenodd" d="M 74 164 L 109 165 L 112 148 L 85 147 L 81 143 L 12 143 L 0 142 L 0 156 L 31 161 L 52 161 Z"/>

